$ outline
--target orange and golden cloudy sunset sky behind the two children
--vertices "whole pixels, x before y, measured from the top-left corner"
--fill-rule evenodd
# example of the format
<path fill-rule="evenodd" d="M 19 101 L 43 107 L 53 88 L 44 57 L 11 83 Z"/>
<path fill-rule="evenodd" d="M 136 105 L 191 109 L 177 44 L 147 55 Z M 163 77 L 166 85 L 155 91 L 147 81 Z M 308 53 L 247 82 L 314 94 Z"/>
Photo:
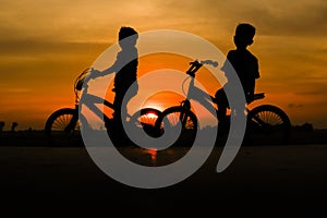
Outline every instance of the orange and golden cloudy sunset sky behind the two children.
<path fill-rule="evenodd" d="M 259 59 L 256 89 L 267 96 L 261 102 L 280 106 L 293 124 L 327 128 L 326 0 L 0 0 L 0 7 L 7 130 L 14 121 L 43 129 L 56 109 L 73 107 L 74 80 L 117 41 L 120 26 L 189 32 L 227 53 L 242 22 L 257 28 L 250 50 Z"/>

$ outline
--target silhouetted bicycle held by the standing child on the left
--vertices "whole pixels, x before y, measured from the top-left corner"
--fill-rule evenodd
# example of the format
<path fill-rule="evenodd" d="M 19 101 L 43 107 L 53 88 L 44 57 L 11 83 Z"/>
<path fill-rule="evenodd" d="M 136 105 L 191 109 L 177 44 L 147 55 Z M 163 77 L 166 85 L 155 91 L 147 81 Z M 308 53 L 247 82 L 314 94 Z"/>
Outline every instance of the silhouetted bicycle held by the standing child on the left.
<path fill-rule="evenodd" d="M 83 105 L 90 109 L 98 118 L 104 119 L 105 128 L 107 129 L 109 136 L 114 137 L 112 134 L 114 125 L 110 124 L 112 123 L 112 118 L 96 106 L 96 104 L 102 104 L 114 112 L 113 104 L 88 93 L 88 82 L 95 78 L 96 76 L 95 73 L 93 73 L 93 69 L 86 69 L 83 71 L 74 83 L 75 107 L 61 108 L 48 117 L 45 124 L 45 134 L 51 138 L 52 142 L 57 141 L 58 143 L 63 143 L 63 140 L 71 140 L 74 135 L 80 135 L 81 122 L 78 118 L 78 109 L 81 107 L 81 96 L 88 99 L 87 101 L 84 101 Z M 149 129 L 148 126 L 155 125 L 155 120 L 160 116 L 160 113 L 161 111 L 155 108 L 143 108 L 132 116 L 126 114 L 126 117 L 129 119 L 128 122 L 135 125 L 135 128 L 143 128 L 144 130 L 147 130 Z M 80 116 L 82 116 L 82 118 L 86 121 L 83 114 Z M 85 128 L 89 128 L 89 124 L 87 125 L 88 126 Z"/>

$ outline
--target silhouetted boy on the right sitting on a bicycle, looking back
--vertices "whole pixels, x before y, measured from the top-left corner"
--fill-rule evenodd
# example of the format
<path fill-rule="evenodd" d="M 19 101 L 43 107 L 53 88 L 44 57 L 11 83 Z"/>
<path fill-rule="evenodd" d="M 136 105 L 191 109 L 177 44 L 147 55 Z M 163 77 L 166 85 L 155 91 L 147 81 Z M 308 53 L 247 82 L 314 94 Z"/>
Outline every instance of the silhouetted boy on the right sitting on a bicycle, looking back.
<path fill-rule="evenodd" d="M 243 90 L 245 94 L 246 101 L 250 102 L 254 96 L 255 80 L 259 77 L 258 61 L 255 56 L 253 56 L 246 48 L 253 44 L 253 37 L 255 35 L 255 27 L 251 24 L 239 24 L 235 29 L 235 35 L 233 37 L 235 50 L 230 50 L 227 55 L 228 61 L 231 63 L 235 70 Z M 228 63 L 223 64 L 221 70 L 225 72 L 226 77 L 229 80 L 228 75 Z M 228 83 L 226 84 L 228 85 Z M 225 85 L 225 86 L 226 86 Z M 228 99 L 223 88 L 217 90 L 216 100 L 218 104 L 218 119 L 219 121 L 226 121 L 226 112 L 229 107 Z"/>

